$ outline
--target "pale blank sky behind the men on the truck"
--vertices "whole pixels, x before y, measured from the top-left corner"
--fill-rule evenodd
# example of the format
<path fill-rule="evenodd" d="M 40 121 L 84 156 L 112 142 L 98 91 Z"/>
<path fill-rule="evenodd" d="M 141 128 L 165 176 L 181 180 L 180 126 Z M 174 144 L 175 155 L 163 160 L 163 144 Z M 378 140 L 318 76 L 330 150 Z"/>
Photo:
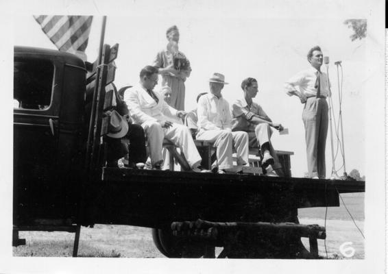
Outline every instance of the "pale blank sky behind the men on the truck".
<path fill-rule="evenodd" d="M 333 112 L 336 122 L 339 114 L 339 87 L 337 66 L 343 66 L 343 139 L 345 166 L 365 174 L 365 43 L 366 39 L 352 42 L 352 29 L 343 24 L 349 17 L 339 18 L 255 18 L 232 17 L 217 14 L 195 16 L 108 16 L 105 42 L 119 43 L 115 84 L 134 85 L 138 73 L 151 64 L 156 53 L 167 44 L 165 31 L 171 25 L 180 29 L 180 50 L 191 61 L 191 77 L 186 80 L 185 110 L 196 108 L 195 98 L 208 91 L 210 75 L 223 73 L 229 84 L 223 88 L 223 96 L 230 102 L 243 95 L 241 82 L 246 77 L 258 80 L 259 92 L 255 101 L 267 112 L 274 123 L 289 129 L 288 135 L 274 132 L 275 149 L 293 151 L 291 172 L 303 177 L 306 169 L 302 104 L 297 97 L 285 94 L 284 82 L 302 69 L 308 68 L 308 49 L 322 47 L 330 57 L 328 72 L 332 83 Z M 97 58 L 101 16 L 95 16 L 86 55 L 93 62 Z M 139 23 L 141 22 L 141 23 Z M 56 49 L 31 15 L 14 18 L 14 45 L 28 45 Z M 324 66 L 326 71 L 326 66 Z M 341 76 L 341 71 L 339 71 Z M 161 81 L 160 81 L 161 82 Z M 160 84 L 159 84 L 160 85 Z M 156 86 L 156 90 L 160 86 Z M 337 123 L 338 124 L 338 123 Z M 332 120 L 333 130 L 334 120 Z M 341 151 L 337 149 L 337 134 L 333 131 L 337 160 L 335 168 L 343 175 Z M 341 139 L 341 132 L 338 132 Z M 326 145 L 326 176 L 332 171 L 330 132 Z"/>

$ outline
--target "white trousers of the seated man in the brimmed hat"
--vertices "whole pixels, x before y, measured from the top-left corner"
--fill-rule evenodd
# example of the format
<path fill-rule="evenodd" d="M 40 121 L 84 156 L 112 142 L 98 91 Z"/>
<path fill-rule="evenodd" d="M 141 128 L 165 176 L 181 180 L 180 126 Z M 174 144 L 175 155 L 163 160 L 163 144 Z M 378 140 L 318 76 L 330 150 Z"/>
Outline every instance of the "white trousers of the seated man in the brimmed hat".
<path fill-rule="evenodd" d="M 214 142 L 214 146 L 217 147 L 216 155 L 219 169 L 232 169 L 232 147 L 236 149 L 237 164 L 248 163 L 249 143 L 247 132 L 230 132 L 226 129 L 201 130 L 196 139 Z"/>

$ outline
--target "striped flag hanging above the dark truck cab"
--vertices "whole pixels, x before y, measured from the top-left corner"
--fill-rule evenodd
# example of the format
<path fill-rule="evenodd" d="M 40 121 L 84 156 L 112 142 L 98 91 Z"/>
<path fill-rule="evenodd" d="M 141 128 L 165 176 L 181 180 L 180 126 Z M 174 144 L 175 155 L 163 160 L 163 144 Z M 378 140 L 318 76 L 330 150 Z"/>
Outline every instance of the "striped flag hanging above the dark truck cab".
<path fill-rule="evenodd" d="M 60 51 L 84 54 L 93 16 L 36 15 L 34 18 Z"/>

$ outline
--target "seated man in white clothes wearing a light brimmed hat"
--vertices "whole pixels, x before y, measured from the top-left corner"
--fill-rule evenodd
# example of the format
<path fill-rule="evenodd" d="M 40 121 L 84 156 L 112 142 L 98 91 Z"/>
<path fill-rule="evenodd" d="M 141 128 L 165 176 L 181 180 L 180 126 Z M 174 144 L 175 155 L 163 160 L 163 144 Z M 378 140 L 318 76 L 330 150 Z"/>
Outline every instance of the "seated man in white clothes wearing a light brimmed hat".
<path fill-rule="evenodd" d="M 197 140 L 214 142 L 217 147 L 218 173 L 233 170 L 232 146 L 237 151 L 237 172 L 248 163 L 248 134 L 246 132 L 232 132 L 229 103 L 223 99 L 221 90 L 225 77 L 221 73 L 214 73 L 209 79 L 210 93 L 202 95 L 198 101 Z"/>

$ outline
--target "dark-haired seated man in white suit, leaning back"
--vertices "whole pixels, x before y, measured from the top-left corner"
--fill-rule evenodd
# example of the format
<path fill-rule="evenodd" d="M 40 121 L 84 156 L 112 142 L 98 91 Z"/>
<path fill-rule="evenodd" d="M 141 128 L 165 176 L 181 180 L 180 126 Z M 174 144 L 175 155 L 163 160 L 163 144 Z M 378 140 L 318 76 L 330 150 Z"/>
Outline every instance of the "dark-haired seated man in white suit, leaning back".
<path fill-rule="evenodd" d="M 167 139 L 184 153 L 193 171 L 199 172 L 201 156 L 195 147 L 190 130 L 184 125 L 173 123 L 172 117 L 181 118 L 185 112 L 169 106 L 162 95 L 153 91 L 158 84 L 158 69 L 145 66 L 140 72 L 138 86 L 126 92 L 124 101 L 128 105 L 134 123 L 141 125 L 147 135 L 149 154 L 153 169 L 160 169 L 163 162 L 162 143 Z"/>

